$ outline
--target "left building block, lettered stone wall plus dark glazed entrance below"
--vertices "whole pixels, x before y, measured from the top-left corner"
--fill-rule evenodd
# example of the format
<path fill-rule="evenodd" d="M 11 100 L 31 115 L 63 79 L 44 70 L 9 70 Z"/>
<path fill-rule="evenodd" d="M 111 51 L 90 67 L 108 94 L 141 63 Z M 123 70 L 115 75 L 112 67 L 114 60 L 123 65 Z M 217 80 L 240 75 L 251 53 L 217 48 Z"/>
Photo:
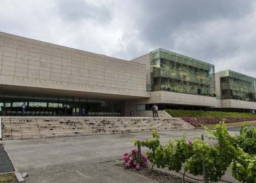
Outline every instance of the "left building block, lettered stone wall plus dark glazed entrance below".
<path fill-rule="evenodd" d="M 150 97 L 145 65 L 0 33 L 1 115 L 124 116 Z"/>

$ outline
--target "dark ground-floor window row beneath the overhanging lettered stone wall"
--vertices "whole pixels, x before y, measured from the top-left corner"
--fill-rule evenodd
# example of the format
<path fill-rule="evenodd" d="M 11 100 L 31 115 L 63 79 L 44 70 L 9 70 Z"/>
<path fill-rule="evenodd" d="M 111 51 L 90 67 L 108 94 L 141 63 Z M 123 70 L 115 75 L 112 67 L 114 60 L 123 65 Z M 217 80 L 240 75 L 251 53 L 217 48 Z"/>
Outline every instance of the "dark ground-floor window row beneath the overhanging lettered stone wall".
<path fill-rule="evenodd" d="M 0 93 L 1 115 L 20 114 L 23 102 L 28 115 L 37 111 L 42 115 L 50 112 L 52 116 L 124 115 L 124 101 L 9 92 Z"/>

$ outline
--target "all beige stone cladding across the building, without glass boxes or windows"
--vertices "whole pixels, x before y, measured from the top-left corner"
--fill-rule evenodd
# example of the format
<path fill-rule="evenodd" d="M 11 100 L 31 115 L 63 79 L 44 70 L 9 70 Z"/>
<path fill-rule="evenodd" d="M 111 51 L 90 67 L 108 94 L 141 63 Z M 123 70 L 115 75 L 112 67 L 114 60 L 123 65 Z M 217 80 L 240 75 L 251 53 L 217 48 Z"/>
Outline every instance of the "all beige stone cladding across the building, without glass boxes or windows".
<path fill-rule="evenodd" d="M 136 105 L 163 104 L 256 109 L 256 102 L 221 100 L 219 73 L 216 97 L 149 92 L 150 53 L 125 61 L 0 32 L 0 90 L 125 100 L 125 116 L 151 116 Z M 165 113 L 160 116 L 167 117 Z"/>

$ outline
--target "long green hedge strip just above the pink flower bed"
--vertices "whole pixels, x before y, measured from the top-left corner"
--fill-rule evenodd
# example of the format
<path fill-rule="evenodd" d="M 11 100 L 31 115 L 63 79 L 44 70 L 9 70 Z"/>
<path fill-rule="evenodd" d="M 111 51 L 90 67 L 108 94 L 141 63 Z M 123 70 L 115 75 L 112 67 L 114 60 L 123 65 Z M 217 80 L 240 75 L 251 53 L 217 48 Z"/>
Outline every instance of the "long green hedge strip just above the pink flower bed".
<path fill-rule="evenodd" d="M 256 113 L 231 113 L 201 110 L 172 110 L 165 109 L 172 117 L 256 117 Z"/>

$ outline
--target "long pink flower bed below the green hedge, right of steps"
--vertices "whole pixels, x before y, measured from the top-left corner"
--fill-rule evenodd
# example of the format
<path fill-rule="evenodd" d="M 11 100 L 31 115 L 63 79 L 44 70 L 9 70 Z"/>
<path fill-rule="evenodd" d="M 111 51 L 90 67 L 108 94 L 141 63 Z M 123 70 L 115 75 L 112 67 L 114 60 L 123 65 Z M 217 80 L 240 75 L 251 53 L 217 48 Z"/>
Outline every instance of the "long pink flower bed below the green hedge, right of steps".
<path fill-rule="evenodd" d="M 205 124 L 217 124 L 224 119 L 223 117 L 180 117 L 180 119 L 189 123 L 194 127 L 199 127 Z M 233 122 L 244 122 L 244 121 L 253 121 L 256 120 L 256 117 L 225 117 L 226 123 Z"/>

